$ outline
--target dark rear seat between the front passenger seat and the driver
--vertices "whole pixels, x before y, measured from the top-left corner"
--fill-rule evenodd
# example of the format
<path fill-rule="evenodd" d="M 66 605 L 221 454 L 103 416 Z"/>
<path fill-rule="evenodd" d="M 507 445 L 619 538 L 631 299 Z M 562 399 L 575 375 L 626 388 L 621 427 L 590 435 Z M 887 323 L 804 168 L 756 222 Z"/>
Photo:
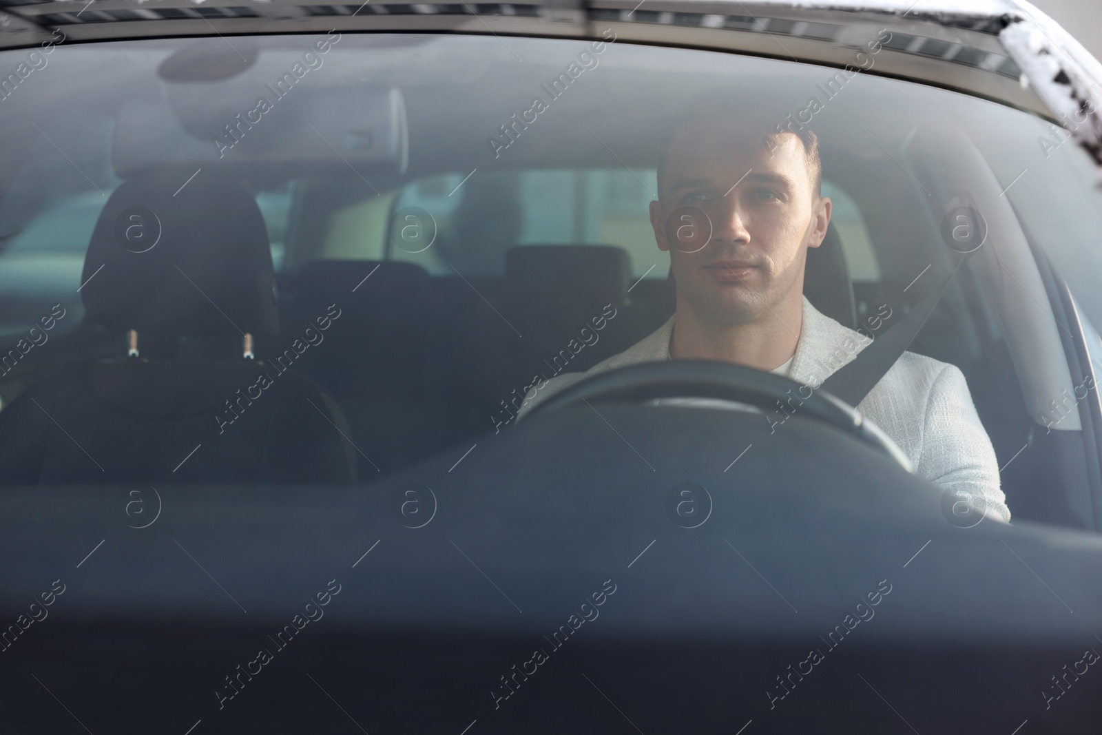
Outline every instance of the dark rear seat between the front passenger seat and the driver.
<path fill-rule="evenodd" d="M 629 300 L 620 248 L 515 247 L 505 271 L 504 279 L 429 278 L 411 263 L 324 260 L 290 279 L 284 339 L 329 304 L 342 309 L 301 369 L 329 390 L 353 441 L 382 472 L 493 432 L 494 417 L 507 418 L 505 402 L 537 374 L 585 370 L 669 316 L 661 304 Z M 594 318 L 604 318 L 603 329 Z M 375 467 L 359 460 L 370 480 Z"/>

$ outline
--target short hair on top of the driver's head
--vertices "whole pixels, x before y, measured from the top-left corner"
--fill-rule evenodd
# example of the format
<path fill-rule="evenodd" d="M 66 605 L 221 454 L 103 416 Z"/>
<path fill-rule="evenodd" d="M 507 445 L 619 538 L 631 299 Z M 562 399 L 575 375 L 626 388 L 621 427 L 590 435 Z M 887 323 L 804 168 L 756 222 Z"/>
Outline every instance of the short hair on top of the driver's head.
<path fill-rule="evenodd" d="M 761 100 L 744 99 L 735 101 L 714 101 L 714 97 L 709 97 L 698 104 L 688 104 L 685 107 L 692 112 L 676 117 L 662 136 L 660 158 L 658 160 L 658 192 L 661 196 L 662 176 L 666 171 L 666 153 L 670 143 L 679 130 L 690 125 L 702 122 L 730 121 L 732 126 L 747 126 L 763 131 L 761 142 L 768 145 L 768 141 L 776 140 L 780 136 L 796 136 L 803 144 L 804 159 L 808 170 L 811 173 L 811 193 L 821 196 L 822 190 L 822 159 L 819 155 L 819 137 L 806 125 L 800 125 L 784 112 L 770 115 L 769 110 L 776 104 L 760 104 Z"/>

